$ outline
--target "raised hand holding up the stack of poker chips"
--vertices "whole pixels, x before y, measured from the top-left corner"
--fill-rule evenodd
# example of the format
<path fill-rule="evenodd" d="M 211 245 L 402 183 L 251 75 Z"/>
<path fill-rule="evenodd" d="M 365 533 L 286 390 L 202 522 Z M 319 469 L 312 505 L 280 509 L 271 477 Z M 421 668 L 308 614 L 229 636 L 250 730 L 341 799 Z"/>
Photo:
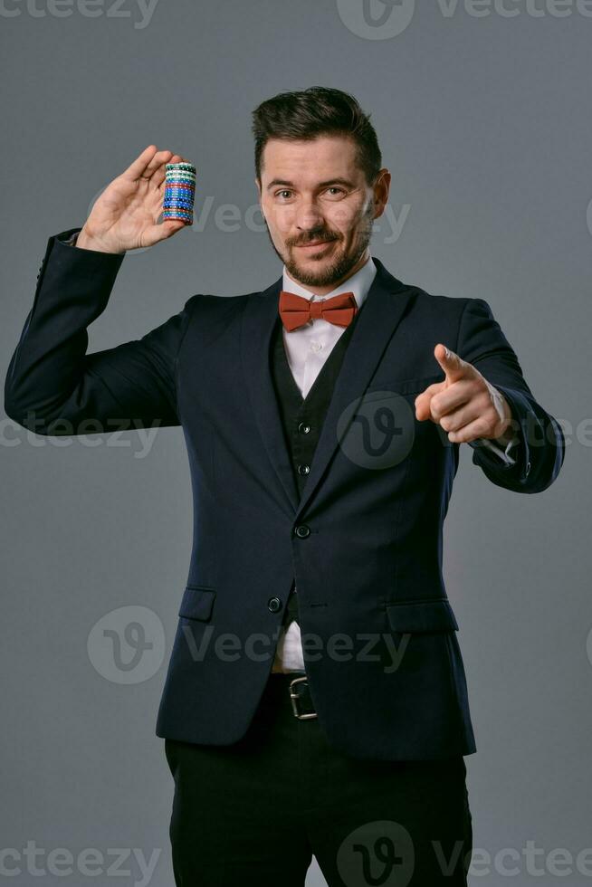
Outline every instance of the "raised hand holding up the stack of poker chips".
<path fill-rule="evenodd" d="M 100 253 L 126 253 L 166 240 L 184 228 L 185 222 L 179 220 L 157 224 L 165 194 L 165 165 L 183 159 L 148 145 L 97 199 L 76 246 Z"/>

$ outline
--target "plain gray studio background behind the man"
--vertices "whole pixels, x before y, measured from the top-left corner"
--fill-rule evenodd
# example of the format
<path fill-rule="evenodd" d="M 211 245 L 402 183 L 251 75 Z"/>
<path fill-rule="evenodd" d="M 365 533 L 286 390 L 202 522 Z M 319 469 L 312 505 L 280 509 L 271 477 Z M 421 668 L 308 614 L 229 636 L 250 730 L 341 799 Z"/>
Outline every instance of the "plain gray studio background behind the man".
<path fill-rule="evenodd" d="M 472 882 L 592 883 L 592 5 L 368 8 L 5 0 L 2 379 L 48 237 L 83 224 L 150 143 L 196 163 L 196 222 L 125 258 L 89 350 L 138 339 L 196 292 L 275 281 L 251 110 L 315 84 L 353 92 L 393 174 L 373 253 L 427 291 L 487 300 L 568 438 L 559 480 L 536 495 L 495 487 L 461 448 L 444 578 L 478 746 Z M 154 729 L 191 546 L 182 431 L 64 442 L 4 413 L 1 427 L 0 882 L 169 887 L 173 783 Z M 92 641 L 121 607 L 156 632 L 128 683 Z M 313 861 L 307 885 L 324 883 Z"/>

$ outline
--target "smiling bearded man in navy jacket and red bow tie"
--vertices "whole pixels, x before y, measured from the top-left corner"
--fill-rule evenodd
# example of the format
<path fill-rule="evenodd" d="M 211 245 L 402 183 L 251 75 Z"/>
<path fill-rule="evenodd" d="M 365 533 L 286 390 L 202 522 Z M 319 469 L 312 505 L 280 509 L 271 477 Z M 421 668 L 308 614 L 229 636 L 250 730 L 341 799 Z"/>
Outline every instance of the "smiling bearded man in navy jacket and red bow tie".
<path fill-rule="evenodd" d="M 150 145 L 49 239 L 6 412 L 38 434 L 183 427 L 194 545 L 157 724 L 177 885 L 302 885 L 311 854 L 329 887 L 465 884 L 476 746 L 442 576 L 459 446 L 534 493 L 563 434 L 487 302 L 370 255 L 390 174 L 352 96 L 275 96 L 253 133 L 282 277 L 86 354 L 125 253 L 183 226 L 157 224 L 182 157 Z"/>

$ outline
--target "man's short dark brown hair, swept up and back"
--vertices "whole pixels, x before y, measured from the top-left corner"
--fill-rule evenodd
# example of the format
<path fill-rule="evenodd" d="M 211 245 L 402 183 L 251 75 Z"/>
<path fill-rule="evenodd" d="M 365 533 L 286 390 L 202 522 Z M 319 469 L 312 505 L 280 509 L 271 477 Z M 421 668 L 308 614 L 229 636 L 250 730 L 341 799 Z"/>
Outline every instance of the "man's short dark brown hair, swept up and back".
<path fill-rule="evenodd" d="M 348 92 L 310 86 L 299 92 L 281 92 L 253 110 L 255 175 L 261 182 L 263 148 L 270 138 L 312 139 L 350 136 L 358 146 L 356 163 L 373 185 L 382 156 L 370 115 Z"/>

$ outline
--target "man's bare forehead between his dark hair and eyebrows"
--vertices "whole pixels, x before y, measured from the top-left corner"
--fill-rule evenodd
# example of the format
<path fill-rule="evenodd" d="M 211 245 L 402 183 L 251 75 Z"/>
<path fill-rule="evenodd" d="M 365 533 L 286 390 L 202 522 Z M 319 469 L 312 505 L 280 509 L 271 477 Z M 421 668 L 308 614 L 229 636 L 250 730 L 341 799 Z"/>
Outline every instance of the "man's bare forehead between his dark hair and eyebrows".
<path fill-rule="evenodd" d="M 330 176 L 361 178 L 355 163 L 356 142 L 348 136 L 310 139 L 270 138 L 263 148 L 262 182 L 273 178 L 313 185 Z"/>

